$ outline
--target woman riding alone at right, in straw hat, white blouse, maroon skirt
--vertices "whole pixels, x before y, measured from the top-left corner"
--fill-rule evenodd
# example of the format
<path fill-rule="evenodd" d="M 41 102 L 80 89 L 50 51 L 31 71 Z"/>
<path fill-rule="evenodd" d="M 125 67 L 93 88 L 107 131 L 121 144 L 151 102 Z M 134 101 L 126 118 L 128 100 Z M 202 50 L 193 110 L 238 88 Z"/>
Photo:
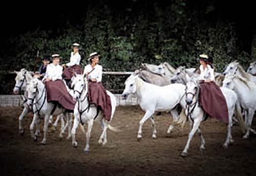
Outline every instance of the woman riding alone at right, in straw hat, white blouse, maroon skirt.
<path fill-rule="evenodd" d="M 204 111 L 211 117 L 216 117 L 228 123 L 228 109 L 226 99 L 215 83 L 214 66 L 212 58 L 202 54 L 200 60 L 200 97 L 199 102 Z"/>

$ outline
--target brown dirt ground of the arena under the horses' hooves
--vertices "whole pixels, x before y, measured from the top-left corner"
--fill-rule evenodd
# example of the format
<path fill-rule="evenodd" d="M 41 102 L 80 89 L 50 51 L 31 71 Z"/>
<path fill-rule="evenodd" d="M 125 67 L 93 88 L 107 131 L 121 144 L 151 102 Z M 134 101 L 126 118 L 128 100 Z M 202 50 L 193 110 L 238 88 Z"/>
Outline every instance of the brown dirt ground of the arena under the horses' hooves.
<path fill-rule="evenodd" d="M 205 152 L 200 153 L 200 140 L 195 135 L 188 156 L 181 158 L 189 126 L 186 124 L 184 131 L 174 130 L 168 136 L 171 117 L 167 113 L 155 116 L 158 138 L 151 138 L 151 121 L 146 121 L 143 138 L 138 142 L 136 136 L 143 112 L 137 106 L 117 107 L 112 125 L 121 132 L 108 130 L 108 143 L 102 147 L 97 142 L 100 125 L 94 123 L 91 152 L 86 154 L 83 152 L 86 137 L 80 128 L 77 148 L 72 147 L 71 139 L 59 139 L 59 130 L 52 132 L 51 125 L 47 145 L 39 144 L 42 137 L 34 142 L 29 133 L 31 113 L 24 119 L 26 132 L 20 136 L 17 119 L 21 112 L 17 107 L 0 107 L 1 175 L 256 175 L 255 136 L 242 139 L 239 128 L 234 127 L 234 144 L 224 149 L 221 146 L 226 126 L 216 119 L 201 124 Z M 253 127 L 256 128 L 255 120 Z"/>

